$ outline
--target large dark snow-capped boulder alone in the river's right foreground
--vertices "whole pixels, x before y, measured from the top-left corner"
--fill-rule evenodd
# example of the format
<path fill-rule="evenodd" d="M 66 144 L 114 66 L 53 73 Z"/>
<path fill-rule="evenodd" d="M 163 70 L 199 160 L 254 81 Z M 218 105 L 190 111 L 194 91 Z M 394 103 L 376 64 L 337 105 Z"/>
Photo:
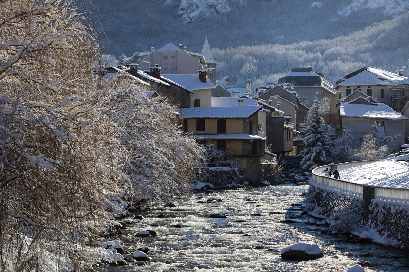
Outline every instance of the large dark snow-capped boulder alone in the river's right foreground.
<path fill-rule="evenodd" d="M 296 243 L 281 250 L 281 258 L 292 260 L 313 260 L 324 257 L 319 245 L 312 243 Z"/>

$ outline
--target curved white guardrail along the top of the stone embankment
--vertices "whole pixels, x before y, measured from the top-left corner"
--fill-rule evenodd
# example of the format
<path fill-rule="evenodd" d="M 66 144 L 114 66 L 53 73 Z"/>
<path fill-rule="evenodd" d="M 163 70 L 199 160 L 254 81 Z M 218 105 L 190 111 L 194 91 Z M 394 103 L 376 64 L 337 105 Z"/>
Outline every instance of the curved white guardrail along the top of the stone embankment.
<path fill-rule="evenodd" d="M 372 161 L 354 161 L 349 163 L 337 163 L 337 169 L 349 169 L 351 167 L 366 165 L 369 163 L 375 163 L 380 160 Z M 331 178 L 327 176 L 321 176 L 322 171 L 326 168 L 330 169 L 331 165 L 323 165 L 312 170 L 312 182 L 316 185 L 333 189 L 336 191 L 344 192 L 347 194 L 354 194 L 362 198 L 363 188 L 362 184 L 353 183 L 350 181 L 344 181 L 341 179 Z M 370 185 L 369 185 L 370 186 Z M 409 189 L 406 188 L 392 188 L 392 187 L 375 187 L 375 199 L 386 201 L 398 201 L 409 203 Z"/>

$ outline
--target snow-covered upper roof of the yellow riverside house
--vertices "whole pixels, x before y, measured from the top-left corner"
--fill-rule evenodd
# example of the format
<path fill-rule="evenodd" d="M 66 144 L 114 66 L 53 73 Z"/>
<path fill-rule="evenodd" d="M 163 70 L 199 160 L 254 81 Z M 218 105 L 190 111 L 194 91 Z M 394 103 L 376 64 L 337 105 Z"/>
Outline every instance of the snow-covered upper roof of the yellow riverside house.
<path fill-rule="evenodd" d="M 249 118 L 262 106 L 196 107 L 180 110 L 180 118 Z"/>

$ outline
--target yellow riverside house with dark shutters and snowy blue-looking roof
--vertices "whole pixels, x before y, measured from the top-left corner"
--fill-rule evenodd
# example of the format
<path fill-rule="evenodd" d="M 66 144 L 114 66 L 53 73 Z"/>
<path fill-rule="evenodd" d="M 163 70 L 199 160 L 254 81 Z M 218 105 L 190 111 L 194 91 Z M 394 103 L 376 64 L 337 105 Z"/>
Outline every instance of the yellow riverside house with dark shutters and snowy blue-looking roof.
<path fill-rule="evenodd" d="M 256 180 L 261 174 L 260 158 L 266 140 L 257 135 L 258 112 L 262 108 L 260 105 L 184 108 L 180 118 L 184 132 L 207 146 L 213 145 L 211 166 L 241 168 L 245 177 Z"/>

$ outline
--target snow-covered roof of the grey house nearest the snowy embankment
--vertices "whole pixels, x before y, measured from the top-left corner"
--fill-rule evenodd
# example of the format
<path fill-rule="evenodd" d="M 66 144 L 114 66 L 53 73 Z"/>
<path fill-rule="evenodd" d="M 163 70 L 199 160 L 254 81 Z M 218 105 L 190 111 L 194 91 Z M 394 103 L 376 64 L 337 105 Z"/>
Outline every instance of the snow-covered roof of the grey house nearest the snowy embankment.
<path fill-rule="evenodd" d="M 362 98 L 365 99 L 365 98 Z M 399 112 L 394 111 L 384 103 L 376 105 L 366 105 L 352 103 L 351 100 L 347 103 L 339 105 L 339 114 L 347 117 L 361 117 L 361 118 L 379 118 L 379 119 L 393 119 L 393 120 L 407 120 L 408 118 Z"/>

